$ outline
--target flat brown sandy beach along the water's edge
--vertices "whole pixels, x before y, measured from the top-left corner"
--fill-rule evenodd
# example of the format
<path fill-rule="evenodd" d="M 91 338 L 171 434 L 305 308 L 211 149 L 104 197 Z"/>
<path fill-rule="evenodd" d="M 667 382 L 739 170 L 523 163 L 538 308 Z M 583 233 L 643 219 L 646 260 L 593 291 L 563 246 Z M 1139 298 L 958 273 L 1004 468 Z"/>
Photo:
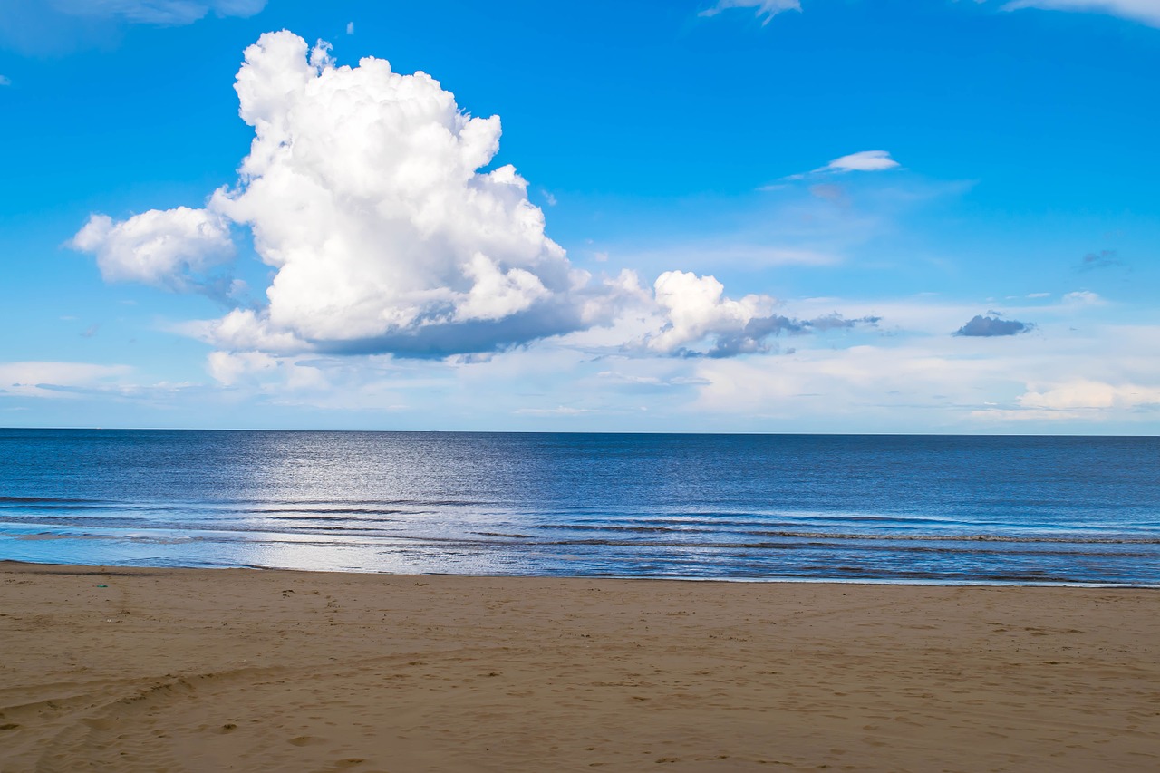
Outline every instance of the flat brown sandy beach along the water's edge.
<path fill-rule="evenodd" d="M 1160 591 L 0 563 L 0 771 L 1160 770 Z"/>

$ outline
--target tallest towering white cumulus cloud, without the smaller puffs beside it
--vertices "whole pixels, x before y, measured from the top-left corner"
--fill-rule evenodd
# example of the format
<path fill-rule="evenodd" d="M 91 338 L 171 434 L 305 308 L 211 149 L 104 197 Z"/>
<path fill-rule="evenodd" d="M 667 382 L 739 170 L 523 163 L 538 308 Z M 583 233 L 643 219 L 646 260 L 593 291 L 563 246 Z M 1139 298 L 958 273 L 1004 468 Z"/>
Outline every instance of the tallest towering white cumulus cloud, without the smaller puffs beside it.
<path fill-rule="evenodd" d="M 372 58 L 334 67 L 275 32 L 246 50 L 237 92 L 256 137 L 241 185 L 210 209 L 251 226 L 277 268 L 259 323 L 321 348 L 445 353 L 607 313 L 527 182 L 512 166 L 479 171 L 499 118 L 465 115 L 429 75 Z"/>

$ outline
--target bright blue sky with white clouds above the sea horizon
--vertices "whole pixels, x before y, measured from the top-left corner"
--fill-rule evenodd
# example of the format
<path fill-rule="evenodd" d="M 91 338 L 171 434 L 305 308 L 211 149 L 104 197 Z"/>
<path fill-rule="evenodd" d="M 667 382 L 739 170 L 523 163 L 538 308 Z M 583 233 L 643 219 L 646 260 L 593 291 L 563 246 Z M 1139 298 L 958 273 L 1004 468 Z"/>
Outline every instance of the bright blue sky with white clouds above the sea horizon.
<path fill-rule="evenodd" d="M 1160 0 L 7 0 L 0 426 L 1157 434 Z"/>

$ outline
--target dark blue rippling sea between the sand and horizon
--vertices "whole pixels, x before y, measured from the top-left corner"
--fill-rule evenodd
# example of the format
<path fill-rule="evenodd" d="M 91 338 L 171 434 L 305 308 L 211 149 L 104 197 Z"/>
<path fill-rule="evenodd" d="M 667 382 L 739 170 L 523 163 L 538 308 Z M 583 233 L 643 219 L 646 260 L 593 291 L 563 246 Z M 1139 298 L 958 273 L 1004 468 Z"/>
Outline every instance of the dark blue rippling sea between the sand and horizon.
<path fill-rule="evenodd" d="M 0 558 L 1160 584 L 1160 439 L 0 429 Z"/>

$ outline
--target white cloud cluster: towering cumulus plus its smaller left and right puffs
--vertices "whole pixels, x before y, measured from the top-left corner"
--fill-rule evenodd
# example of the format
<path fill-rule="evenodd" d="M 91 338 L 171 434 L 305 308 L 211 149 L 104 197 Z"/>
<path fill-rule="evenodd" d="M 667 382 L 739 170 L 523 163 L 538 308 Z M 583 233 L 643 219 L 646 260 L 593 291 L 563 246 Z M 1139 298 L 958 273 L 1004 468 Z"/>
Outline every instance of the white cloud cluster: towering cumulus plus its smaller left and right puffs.
<path fill-rule="evenodd" d="M 268 303 L 186 327 L 219 349 L 442 357 L 631 313 L 652 325 L 626 345 L 639 353 L 724 356 L 822 330 L 777 318 L 768 296 L 728 298 L 712 276 L 665 272 L 650 291 L 631 270 L 575 268 L 515 168 L 480 171 L 499 117 L 470 116 L 423 72 L 339 67 L 328 44 L 283 30 L 246 49 L 235 91 L 255 133 L 235 187 L 202 209 L 93 215 L 71 241 L 107 281 L 224 299 L 231 225 L 248 227 L 275 272 Z"/>

